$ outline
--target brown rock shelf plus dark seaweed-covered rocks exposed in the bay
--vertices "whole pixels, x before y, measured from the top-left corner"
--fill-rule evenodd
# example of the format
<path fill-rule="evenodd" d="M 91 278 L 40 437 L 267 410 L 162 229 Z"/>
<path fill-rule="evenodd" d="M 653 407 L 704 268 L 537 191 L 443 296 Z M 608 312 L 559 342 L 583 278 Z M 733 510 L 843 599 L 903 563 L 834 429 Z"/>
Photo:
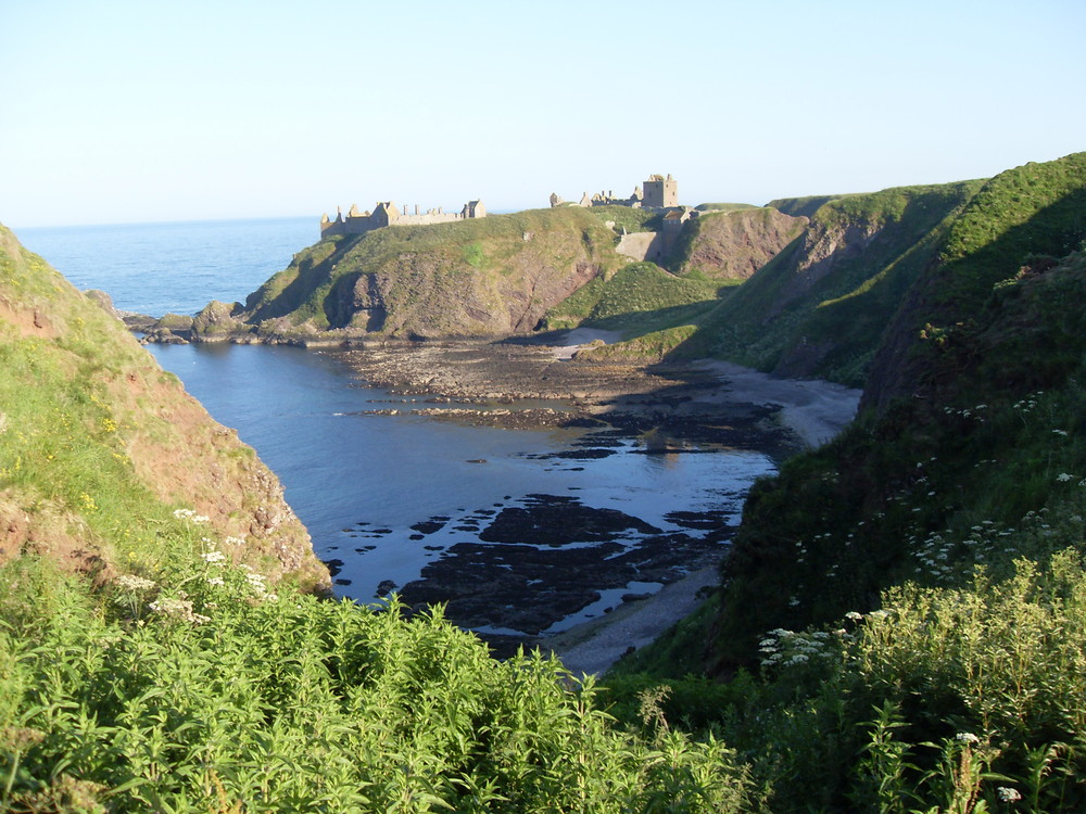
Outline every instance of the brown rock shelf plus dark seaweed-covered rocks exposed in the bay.
<path fill-rule="evenodd" d="M 372 415 L 589 428 L 574 448 L 555 456 L 566 466 L 579 456 L 611 455 L 631 438 L 644 454 L 745 448 L 780 460 L 834 434 L 858 400 L 858 393 L 836 385 L 774 380 L 718 363 L 586 360 L 579 358 L 577 339 L 390 343 L 334 354 L 359 379 L 400 399 L 375 406 Z M 706 575 L 727 552 L 735 517 L 712 509 L 685 514 L 669 517 L 679 531 L 665 532 L 576 497 L 528 496 L 516 507 L 476 512 L 469 524 L 477 540 L 444 549 L 421 578 L 396 590 L 415 609 L 444 603 L 449 619 L 475 629 L 498 656 L 520 646 L 560 652 L 561 643 L 576 641 L 571 658 L 579 669 L 602 671 L 629 647 L 617 647 L 616 636 L 626 640 L 634 624 L 609 633 L 611 607 L 616 623 L 633 616 L 644 626 L 647 619 L 646 629 L 659 632 L 693 607 L 692 592 L 686 596 L 679 584 L 695 572 L 698 587 L 711 582 Z M 608 597 L 606 612 L 578 626 L 591 633 L 558 624 Z M 607 656 L 590 656 L 593 648 Z"/>

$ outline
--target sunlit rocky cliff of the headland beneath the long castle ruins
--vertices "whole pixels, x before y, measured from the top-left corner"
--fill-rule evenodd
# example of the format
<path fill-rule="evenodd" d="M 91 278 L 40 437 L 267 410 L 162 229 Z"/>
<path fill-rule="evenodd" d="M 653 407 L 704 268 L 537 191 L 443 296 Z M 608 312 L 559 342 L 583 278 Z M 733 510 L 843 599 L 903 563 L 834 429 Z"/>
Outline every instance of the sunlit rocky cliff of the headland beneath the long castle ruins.
<path fill-rule="evenodd" d="M 576 207 L 324 240 L 248 298 L 264 332 L 508 335 L 622 265 L 616 236 Z"/>

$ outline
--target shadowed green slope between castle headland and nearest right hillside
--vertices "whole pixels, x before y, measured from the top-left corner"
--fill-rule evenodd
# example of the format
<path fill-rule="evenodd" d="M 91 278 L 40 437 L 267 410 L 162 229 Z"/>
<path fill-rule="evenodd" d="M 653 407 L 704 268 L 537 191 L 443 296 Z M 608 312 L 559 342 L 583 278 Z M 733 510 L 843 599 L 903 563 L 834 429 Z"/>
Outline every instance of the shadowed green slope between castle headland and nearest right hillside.
<path fill-rule="evenodd" d="M 907 187 L 821 204 L 794 247 L 721 303 L 679 353 L 860 386 L 940 230 L 980 186 Z"/>

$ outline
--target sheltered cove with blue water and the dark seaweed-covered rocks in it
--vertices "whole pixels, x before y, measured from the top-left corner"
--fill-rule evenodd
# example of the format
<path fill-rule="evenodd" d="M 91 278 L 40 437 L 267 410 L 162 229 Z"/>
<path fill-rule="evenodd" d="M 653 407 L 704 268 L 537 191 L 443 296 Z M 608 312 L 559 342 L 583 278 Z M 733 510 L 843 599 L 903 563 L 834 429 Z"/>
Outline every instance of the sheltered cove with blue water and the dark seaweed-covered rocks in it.
<path fill-rule="evenodd" d="M 416 400 L 364 385 L 333 352 L 149 349 L 276 472 L 339 596 L 449 602 L 484 634 L 565 629 L 719 556 L 774 470 L 749 449 L 412 415 Z"/>

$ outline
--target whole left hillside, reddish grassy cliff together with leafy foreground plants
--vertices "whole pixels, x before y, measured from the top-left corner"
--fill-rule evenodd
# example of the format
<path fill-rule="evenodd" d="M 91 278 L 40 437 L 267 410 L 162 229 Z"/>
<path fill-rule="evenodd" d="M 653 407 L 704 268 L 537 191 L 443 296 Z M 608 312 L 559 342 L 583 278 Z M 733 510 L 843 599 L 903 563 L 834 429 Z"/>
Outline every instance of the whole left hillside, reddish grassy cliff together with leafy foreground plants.
<path fill-rule="evenodd" d="M 286 540 L 227 535 L 274 478 L 5 230 L 0 408 L 0 811 L 749 807 L 722 745 L 621 732 L 555 661 L 273 588 Z"/>

